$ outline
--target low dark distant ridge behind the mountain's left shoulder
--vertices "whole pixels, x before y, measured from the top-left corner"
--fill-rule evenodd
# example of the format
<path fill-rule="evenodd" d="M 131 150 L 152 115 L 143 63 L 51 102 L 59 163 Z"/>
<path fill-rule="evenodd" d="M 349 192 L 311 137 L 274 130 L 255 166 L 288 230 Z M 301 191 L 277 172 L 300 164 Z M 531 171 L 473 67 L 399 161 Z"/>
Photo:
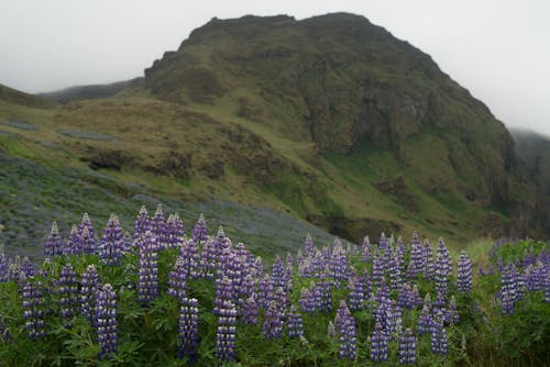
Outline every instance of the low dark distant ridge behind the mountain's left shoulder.
<path fill-rule="evenodd" d="M 56 101 L 57 103 L 68 103 L 82 99 L 109 98 L 124 89 L 139 86 L 143 78 L 117 81 L 107 85 L 75 86 L 62 90 L 40 93 L 38 96 Z"/>

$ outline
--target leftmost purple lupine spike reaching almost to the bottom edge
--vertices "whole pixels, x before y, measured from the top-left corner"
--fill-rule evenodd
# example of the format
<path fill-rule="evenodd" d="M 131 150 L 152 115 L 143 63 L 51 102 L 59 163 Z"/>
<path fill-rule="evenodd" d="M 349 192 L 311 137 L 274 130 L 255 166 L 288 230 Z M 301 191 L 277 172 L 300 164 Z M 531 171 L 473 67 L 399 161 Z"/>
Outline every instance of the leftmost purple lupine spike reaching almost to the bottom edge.
<path fill-rule="evenodd" d="M 99 359 L 103 359 L 118 349 L 117 294 L 110 283 L 106 283 L 98 292 L 96 325 Z"/>

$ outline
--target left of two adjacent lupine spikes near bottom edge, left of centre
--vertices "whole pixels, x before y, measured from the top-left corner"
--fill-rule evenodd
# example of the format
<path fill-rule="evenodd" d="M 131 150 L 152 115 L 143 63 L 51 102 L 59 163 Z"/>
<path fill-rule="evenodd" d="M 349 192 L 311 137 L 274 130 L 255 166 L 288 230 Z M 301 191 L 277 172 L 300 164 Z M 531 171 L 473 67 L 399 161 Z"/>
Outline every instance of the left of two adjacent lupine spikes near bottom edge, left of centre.
<path fill-rule="evenodd" d="M 189 360 L 197 359 L 199 338 L 199 302 L 196 298 L 184 297 L 179 308 L 179 358 L 187 356 Z"/>

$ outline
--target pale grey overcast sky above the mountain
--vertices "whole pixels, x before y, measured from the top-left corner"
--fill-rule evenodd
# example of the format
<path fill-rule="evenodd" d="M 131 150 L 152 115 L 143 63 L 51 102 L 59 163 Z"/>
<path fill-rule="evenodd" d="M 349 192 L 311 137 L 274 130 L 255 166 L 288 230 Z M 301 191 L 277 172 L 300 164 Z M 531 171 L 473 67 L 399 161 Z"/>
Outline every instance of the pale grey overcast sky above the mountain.
<path fill-rule="evenodd" d="M 40 92 L 130 79 L 213 16 L 336 11 L 430 54 L 505 124 L 550 135 L 549 0 L 0 0 L 0 84 Z"/>

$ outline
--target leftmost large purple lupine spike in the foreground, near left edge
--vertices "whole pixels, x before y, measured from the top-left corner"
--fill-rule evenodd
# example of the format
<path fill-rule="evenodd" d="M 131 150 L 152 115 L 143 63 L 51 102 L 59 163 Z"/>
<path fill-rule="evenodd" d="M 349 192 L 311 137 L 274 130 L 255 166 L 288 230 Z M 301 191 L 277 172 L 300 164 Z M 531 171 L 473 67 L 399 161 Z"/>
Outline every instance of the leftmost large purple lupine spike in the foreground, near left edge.
<path fill-rule="evenodd" d="M 26 319 L 25 330 L 29 337 L 43 337 L 44 330 L 44 297 L 42 282 L 26 280 L 23 285 L 21 298 L 23 299 L 23 318 Z"/>

